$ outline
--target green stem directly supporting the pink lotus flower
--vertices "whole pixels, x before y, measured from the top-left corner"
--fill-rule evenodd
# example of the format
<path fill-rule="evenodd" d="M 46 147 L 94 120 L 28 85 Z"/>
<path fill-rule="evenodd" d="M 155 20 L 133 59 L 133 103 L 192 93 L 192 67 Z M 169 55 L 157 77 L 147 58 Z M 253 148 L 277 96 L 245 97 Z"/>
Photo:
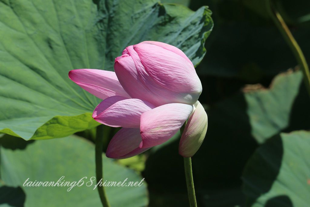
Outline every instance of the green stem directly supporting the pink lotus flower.
<path fill-rule="evenodd" d="M 186 124 L 187 124 L 187 121 L 185 121 L 183 126 L 180 128 L 181 135 L 184 131 Z M 185 171 L 185 179 L 186 179 L 189 206 L 197 207 L 194 180 L 193 180 L 193 171 L 192 171 L 192 159 L 190 157 L 184 157 L 184 171 Z"/>

